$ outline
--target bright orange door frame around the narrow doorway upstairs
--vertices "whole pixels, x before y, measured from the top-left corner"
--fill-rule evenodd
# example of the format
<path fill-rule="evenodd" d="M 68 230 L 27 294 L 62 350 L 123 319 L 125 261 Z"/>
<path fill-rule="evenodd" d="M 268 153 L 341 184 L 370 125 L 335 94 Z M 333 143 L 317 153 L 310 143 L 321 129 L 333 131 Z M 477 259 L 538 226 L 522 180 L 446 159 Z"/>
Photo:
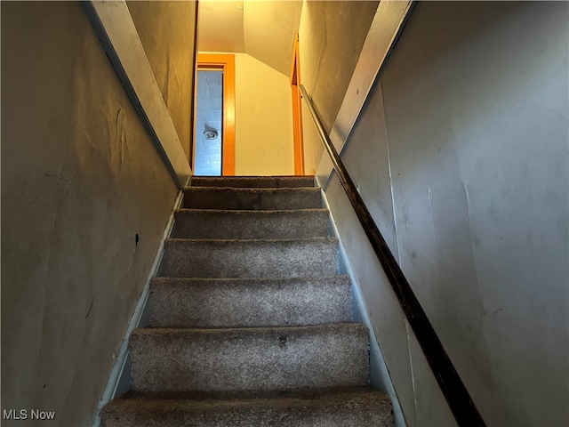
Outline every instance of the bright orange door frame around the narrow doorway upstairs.
<path fill-rule="evenodd" d="M 198 53 L 197 69 L 223 70 L 221 175 L 235 175 L 235 55 Z"/>

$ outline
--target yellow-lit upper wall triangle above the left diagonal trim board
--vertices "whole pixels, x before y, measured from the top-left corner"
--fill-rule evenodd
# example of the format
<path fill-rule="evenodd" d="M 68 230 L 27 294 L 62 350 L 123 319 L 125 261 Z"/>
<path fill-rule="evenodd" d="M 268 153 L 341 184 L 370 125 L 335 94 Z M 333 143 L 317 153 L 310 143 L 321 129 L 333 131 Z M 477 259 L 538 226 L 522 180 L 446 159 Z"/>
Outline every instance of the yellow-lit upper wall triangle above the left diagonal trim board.
<path fill-rule="evenodd" d="M 189 159 L 197 2 L 136 0 L 127 5 Z"/>

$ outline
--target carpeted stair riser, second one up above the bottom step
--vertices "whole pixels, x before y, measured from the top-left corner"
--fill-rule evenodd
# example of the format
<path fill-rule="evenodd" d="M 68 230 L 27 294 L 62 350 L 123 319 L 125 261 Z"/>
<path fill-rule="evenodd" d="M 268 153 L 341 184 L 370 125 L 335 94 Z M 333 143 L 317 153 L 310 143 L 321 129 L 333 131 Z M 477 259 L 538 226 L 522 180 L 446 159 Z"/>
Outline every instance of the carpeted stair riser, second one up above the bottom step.
<path fill-rule="evenodd" d="M 307 326 L 351 320 L 349 278 L 208 280 L 156 278 L 154 327 Z"/>

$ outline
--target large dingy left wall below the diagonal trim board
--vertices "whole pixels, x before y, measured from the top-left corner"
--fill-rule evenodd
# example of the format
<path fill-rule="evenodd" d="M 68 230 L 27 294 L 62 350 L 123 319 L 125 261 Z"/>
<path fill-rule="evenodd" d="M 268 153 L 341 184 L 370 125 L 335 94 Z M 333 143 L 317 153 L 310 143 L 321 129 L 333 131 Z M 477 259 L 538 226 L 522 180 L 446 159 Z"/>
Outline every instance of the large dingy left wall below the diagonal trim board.
<path fill-rule="evenodd" d="M 80 4 L 2 4 L 2 60 L 2 409 L 87 425 L 176 188 Z"/>

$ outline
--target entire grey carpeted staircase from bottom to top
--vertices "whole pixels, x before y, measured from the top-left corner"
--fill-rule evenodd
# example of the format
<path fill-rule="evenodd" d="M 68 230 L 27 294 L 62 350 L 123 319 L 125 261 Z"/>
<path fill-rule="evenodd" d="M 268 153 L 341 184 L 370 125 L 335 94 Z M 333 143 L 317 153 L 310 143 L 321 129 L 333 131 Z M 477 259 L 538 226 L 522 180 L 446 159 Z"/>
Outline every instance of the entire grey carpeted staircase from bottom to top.
<path fill-rule="evenodd" d="M 194 177 L 104 427 L 391 426 L 312 177 Z"/>

